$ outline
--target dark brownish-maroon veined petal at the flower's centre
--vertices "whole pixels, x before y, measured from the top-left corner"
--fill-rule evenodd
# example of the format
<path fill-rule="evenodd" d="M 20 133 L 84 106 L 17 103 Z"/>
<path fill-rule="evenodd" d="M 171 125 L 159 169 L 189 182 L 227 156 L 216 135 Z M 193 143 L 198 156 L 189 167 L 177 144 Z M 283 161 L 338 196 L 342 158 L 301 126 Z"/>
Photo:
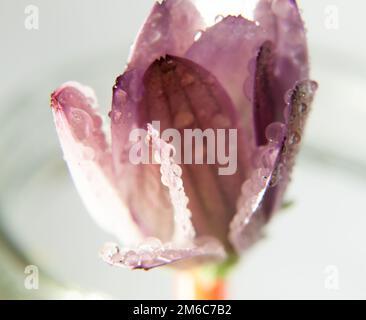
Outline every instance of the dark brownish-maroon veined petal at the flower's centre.
<path fill-rule="evenodd" d="M 160 121 L 161 131 L 175 128 L 184 137 L 184 129 L 238 129 L 237 111 L 222 86 L 211 73 L 187 59 L 167 56 L 155 61 L 145 74 L 144 92 L 139 111 L 147 114 L 149 123 Z M 219 175 L 216 164 L 182 165 L 197 234 L 215 236 L 225 244 L 240 186 L 248 174 L 241 129 L 238 139 L 238 170 L 232 175 Z M 184 141 L 182 155 L 183 146 Z M 207 152 L 207 146 L 204 148 Z"/>

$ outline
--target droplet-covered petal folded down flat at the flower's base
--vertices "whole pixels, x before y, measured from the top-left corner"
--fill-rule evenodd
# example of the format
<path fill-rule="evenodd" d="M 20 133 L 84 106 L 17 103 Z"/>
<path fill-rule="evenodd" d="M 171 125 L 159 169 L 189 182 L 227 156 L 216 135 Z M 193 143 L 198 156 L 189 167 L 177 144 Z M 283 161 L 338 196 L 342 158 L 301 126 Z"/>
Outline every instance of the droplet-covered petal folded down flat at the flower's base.
<path fill-rule="evenodd" d="M 161 243 L 151 238 L 135 248 L 120 249 L 109 243 L 101 251 L 102 259 L 110 265 L 130 269 L 151 269 L 171 263 L 179 267 L 192 266 L 195 263 L 221 261 L 226 257 L 223 247 L 214 240 L 201 239 L 196 243 L 177 246 L 172 243 Z"/>

